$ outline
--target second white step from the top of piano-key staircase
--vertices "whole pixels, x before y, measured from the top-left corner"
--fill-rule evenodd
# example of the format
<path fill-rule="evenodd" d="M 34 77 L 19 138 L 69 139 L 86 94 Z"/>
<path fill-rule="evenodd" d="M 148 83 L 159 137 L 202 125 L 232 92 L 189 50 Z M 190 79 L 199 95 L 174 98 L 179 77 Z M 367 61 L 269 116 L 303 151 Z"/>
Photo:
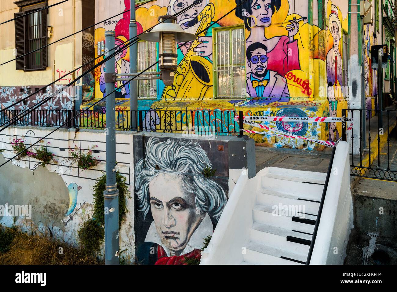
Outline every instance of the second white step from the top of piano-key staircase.
<path fill-rule="evenodd" d="M 283 193 L 286 196 L 302 197 L 310 200 L 320 201 L 324 189 L 323 185 L 310 184 L 303 182 L 293 182 L 289 180 L 280 180 L 277 178 L 261 177 L 262 190 Z"/>

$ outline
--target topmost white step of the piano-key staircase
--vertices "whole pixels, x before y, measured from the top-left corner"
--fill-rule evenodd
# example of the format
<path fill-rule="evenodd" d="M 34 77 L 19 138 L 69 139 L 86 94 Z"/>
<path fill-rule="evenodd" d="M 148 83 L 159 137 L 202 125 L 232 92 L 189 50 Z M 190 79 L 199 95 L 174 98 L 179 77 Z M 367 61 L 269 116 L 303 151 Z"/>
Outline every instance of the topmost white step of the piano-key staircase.
<path fill-rule="evenodd" d="M 303 171 L 279 167 L 266 167 L 262 173 L 268 178 L 278 178 L 280 180 L 291 180 L 294 182 L 311 182 L 324 184 L 327 174 L 324 172 Z"/>

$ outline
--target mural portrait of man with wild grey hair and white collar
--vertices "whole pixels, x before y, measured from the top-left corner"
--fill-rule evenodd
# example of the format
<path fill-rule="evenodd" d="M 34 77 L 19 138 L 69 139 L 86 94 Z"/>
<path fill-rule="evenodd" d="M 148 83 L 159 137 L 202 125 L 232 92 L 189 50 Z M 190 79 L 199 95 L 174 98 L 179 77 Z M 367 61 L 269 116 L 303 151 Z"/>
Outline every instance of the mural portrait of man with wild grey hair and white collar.
<path fill-rule="evenodd" d="M 155 264 L 200 258 L 203 238 L 212 235 L 227 200 L 201 174 L 211 162 L 197 141 L 150 137 L 145 148 L 146 158 L 135 166 L 135 194 L 137 211 L 153 218 L 145 242 L 157 244 Z"/>

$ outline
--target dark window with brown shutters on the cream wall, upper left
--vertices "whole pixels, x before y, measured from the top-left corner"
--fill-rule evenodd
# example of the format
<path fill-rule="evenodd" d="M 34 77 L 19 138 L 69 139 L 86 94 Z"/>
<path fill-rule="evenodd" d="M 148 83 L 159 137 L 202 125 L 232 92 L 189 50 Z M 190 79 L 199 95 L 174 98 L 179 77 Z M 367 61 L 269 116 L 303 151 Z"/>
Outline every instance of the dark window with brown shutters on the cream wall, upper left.
<path fill-rule="evenodd" d="M 14 3 L 18 5 L 21 2 Z M 48 6 L 46 2 L 26 7 L 20 6 L 21 12 L 14 14 L 14 17 L 18 17 L 14 21 L 16 70 L 43 70 L 47 67 L 47 48 L 37 50 L 47 44 L 48 9 L 40 10 L 46 6 Z M 26 56 L 23 56 L 25 54 Z"/>

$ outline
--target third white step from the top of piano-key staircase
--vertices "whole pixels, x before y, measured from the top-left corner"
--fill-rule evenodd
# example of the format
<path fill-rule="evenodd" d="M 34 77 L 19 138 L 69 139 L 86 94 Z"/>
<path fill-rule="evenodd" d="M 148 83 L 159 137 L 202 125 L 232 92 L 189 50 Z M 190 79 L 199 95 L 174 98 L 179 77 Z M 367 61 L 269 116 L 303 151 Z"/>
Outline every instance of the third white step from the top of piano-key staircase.
<path fill-rule="evenodd" d="M 319 202 L 307 201 L 306 199 L 301 199 L 299 197 L 285 197 L 278 196 L 274 194 L 258 192 L 256 195 L 256 203 L 269 207 L 273 210 L 280 210 L 282 212 L 283 208 L 287 208 L 291 212 L 293 209 L 297 211 L 302 211 L 302 213 L 317 215 L 318 208 L 320 207 Z M 280 206 L 281 204 L 281 206 Z"/>

